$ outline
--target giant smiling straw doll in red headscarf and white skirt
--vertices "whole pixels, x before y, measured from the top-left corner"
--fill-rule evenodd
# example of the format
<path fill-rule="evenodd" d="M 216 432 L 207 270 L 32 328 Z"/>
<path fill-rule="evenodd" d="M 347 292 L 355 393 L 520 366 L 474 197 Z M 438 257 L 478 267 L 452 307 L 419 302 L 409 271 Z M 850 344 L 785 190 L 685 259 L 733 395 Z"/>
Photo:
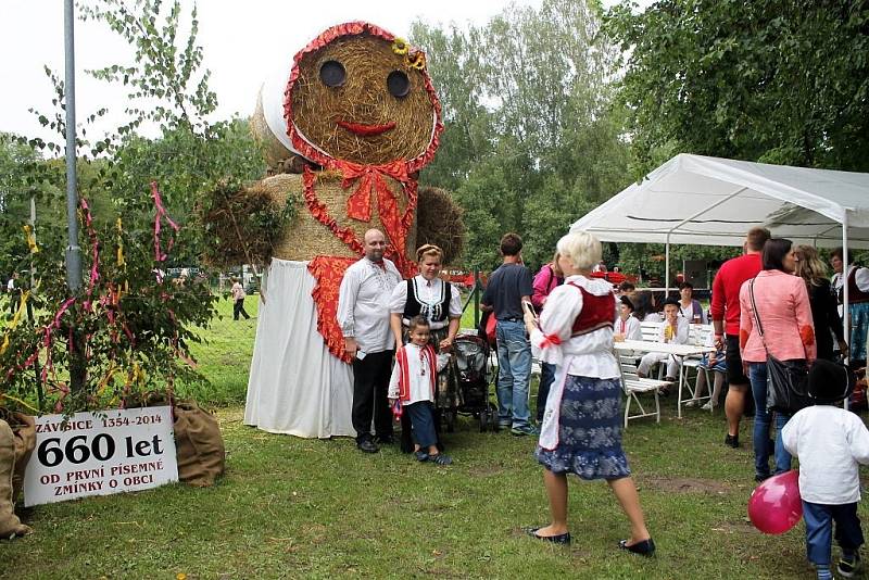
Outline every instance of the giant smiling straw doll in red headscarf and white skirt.
<path fill-rule="evenodd" d="M 244 423 L 300 437 L 353 436 L 338 289 L 373 228 L 386 235 L 385 256 L 402 275 L 416 274 L 408 256 L 425 213 L 417 176 L 443 130 L 426 56 L 368 23 L 333 26 L 295 54 L 279 81 L 264 85 L 251 125 L 275 175 L 243 194 L 295 207 L 275 231 L 235 228 L 239 243 L 267 238 L 270 247 Z M 452 207 L 437 218 L 461 227 Z"/>

